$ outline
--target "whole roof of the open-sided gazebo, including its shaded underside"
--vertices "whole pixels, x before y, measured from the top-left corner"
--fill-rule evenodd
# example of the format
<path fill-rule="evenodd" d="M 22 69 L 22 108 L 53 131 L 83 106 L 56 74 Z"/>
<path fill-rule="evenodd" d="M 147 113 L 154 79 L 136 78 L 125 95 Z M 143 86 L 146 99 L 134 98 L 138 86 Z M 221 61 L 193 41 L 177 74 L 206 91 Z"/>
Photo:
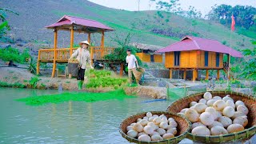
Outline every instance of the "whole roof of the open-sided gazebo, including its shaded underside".
<path fill-rule="evenodd" d="M 86 31 L 90 33 L 105 31 L 112 31 L 114 29 L 110 28 L 102 24 L 101 22 L 97 22 L 90 19 L 78 18 L 74 16 L 64 15 L 62 18 L 51 24 L 46 26 L 48 29 L 60 29 L 60 30 L 70 30 L 70 26 L 74 26 L 75 31 Z"/>

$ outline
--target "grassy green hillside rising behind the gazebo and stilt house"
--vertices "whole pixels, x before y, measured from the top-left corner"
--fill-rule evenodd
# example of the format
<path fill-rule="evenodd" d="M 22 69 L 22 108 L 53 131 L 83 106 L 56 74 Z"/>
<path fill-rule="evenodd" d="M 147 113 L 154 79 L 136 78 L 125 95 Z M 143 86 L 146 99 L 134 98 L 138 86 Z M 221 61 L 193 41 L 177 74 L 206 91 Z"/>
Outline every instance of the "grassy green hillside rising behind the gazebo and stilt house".
<path fill-rule="evenodd" d="M 206 20 L 192 21 L 165 12 L 157 14 L 156 11 L 116 10 L 86 0 L 23 0 L 22 2 L 3 0 L 0 5 L 20 14 L 18 16 L 9 14 L 7 18 L 10 21 L 10 26 L 12 26 L 10 35 L 15 39 L 19 38 L 27 42 L 52 45 L 53 32 L 46 30 L 44 26 L 56 22 L 64 14 L 67 14 L 94 19 L 114 28 L 114 32 L 106 34 L 106 46 L 114 46 L 115 43 L 112 38 L 122 39 L 130 31 L 133 34 L 132 42 L 158 46 L 168 46 L 186 34 L 213 38 L 230 45 L 230 29 L 225 26 Z M 194 23 L 196 24 L 194 25 Z M 251 47 L 251 38 L 237 33 L 233 33 L 232 37 L 232 47 L 235 49 Z M 86 34 L 76 34 L 75 43 L 84 38 L 86 38 Z M 70 34 L 61 32 L 58 40 L 58 46 L 69 46 Z M 98 45 L 100 42 L 99 34 L 94 34 L 92 41 Z"/>

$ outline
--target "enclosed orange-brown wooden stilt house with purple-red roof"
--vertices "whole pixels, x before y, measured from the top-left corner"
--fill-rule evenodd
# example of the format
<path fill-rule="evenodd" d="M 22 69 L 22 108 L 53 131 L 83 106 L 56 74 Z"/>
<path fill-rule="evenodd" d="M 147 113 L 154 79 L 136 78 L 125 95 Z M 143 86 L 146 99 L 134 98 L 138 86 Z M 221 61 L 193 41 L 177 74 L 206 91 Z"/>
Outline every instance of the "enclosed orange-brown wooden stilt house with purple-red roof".
<path fill-rule="evenodd" d="M 209 78 L 209 70 L 217 70 L 217 79 L 220 70 L 227 72 L 230 69 L 227 62 L 223 62 L 223 54 L 242 58 L 242 54 L 222 43 L 206 38 L 186 36 L 180 42 L 158 50 L 165 53 L 165 66 L 170 69 L 170 78 L 173 70 L 183 70 L 183 78 L 186 79 L 186 70 L 193 70 L 193 81 L 198 77 L 198 70 L 206 70 L 206 79 Z"/>

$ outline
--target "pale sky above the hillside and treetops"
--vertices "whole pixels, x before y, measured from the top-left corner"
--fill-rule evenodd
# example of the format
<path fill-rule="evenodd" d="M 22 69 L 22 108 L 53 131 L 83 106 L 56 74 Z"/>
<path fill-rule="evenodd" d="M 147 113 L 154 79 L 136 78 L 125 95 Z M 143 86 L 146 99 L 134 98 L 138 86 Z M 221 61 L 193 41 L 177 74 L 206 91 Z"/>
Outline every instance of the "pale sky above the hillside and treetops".
<path fill-rule="evenodd" d="M 89 0 L 102 6 L 107 6 L 122 10 L 138 10 L 138 0 Z M 168 2 L 168 0 L 162 0 Z M 256 0 L 180 0 L 183 10 L 188 10 L 189 6 L 194 6 L 200 10 L 203 15 L 208 14 L 211 6 L 215 4 L 228 4 L 231 6 L 254 6 L 256 7 Z M 140 0 L 140 10 L 155 10 L 155 6 L 149 6 L 149 0 Z"/>

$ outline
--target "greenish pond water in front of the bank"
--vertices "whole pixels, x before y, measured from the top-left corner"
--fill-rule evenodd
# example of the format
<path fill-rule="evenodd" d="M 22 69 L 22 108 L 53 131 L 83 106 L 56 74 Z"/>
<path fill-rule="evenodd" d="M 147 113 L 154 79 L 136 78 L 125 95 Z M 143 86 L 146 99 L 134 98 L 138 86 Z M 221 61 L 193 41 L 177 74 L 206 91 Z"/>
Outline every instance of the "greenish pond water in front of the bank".
<path fill-rule="evenodd" d="M 124 118 L 144 111 L 165 110 L 170 104 L 139 97 L 42 106 L 15 101 L 58 93 L 58 90 L 0 88 L 0 143 L 129 143 L 118 132 Z"/>

